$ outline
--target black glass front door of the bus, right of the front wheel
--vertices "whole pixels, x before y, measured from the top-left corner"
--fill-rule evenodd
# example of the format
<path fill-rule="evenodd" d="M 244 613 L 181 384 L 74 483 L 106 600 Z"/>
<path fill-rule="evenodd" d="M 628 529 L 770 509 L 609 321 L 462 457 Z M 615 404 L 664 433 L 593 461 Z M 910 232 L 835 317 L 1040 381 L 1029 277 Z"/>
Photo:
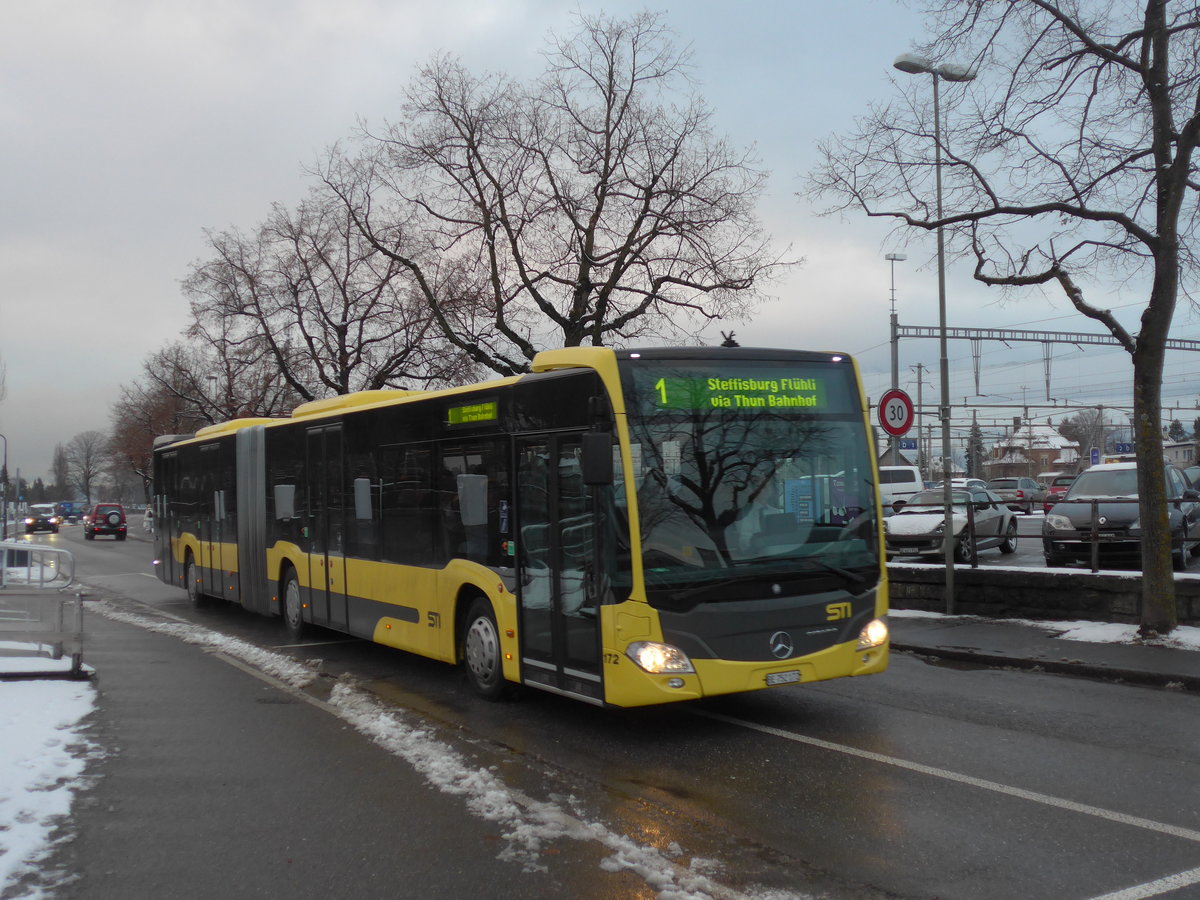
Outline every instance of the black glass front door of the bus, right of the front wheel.
<path fill-rule="evenodd" d="M 521 671 L 524 682 L 602 701 L 595 528 L 578 434 L 517 443 Z"/>

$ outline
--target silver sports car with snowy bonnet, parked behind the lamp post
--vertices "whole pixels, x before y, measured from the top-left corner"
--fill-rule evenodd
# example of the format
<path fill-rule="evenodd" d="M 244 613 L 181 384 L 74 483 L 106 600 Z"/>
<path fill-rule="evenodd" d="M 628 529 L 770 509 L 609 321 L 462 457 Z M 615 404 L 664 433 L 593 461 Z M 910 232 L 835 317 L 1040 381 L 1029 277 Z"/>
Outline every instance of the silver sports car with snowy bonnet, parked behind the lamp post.
<path fill-rule="evenodd" d="M 934 487 L 913 494 L 904 509 L 883 520 L 888 554 L 941 556 L 946 526 L 943 503 L 942 488 Z M 1016 551 L 1016 516 L 995 493 L 979 487 L 953 488 L 950 503 L 956 562 L 971 563 L 980 550 L 989 547 L 998 547 L 1006 554 Z M 968 534 L 971 523 L 974 524 L 974 541 Z"/>

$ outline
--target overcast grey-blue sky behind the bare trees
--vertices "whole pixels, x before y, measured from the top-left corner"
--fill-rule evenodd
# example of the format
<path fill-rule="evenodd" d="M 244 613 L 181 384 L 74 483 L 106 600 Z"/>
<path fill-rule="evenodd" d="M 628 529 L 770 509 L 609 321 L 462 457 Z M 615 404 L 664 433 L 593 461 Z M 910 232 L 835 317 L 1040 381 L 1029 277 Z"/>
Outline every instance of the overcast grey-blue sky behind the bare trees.
<path fill-rule="evenodd" d="M 306 164 L 360 119 L 398 114 L 401 88 L 436 50 L 476 71 L 540 71 L 548 31 L 572 13 L 662 10 L 694 50 L 715 126 L 755 145 L 772 184 L 761 215 L 805 264 L 773 286 L 745 344 L 858 354 L 869 394 L 889 382 L 884 226 L 818 218 L 796 198 L 815 143 L 846 130 L 896 90 L 892 60 L 924 35 L 912 10 L 886 0 L 791 0 L 679 6 L 592 0 L 47 0 L 10 4 L 0 31 L 0 432 L 10 470 L 46 478 L 55 444 L 107 431 L 121 384 L 179 336 L 179 284 L 205 253 L 204 229 L 252 229 L 272 202 L 306 191 Z M 982 73 L 980 78 L 986 78 Z M 900 322 L 937 323 L 931 247 L 896 266 Z M 949 324 L 1082 330 L 1098 326 L 1057 296 L 998 305 L 968 272 L 949 278 Z M 1116 296 L 1134 316 L 1140 298 Z M 1136 326 L 1136 319 L 1127 323 Z M 728 328 L 728 326 L 726 326 Z M 1176 337 L 1200 337 L 1182 311 Z M 719 341 L 716 329 L 712 338 Z M 1184 354 L 1176 354 L 1184 355 Z M 1086 356 L 1086 359 L 1085 359 Z M 910 366 L 937 347 L 901 343 Z M 970 344 L 952 346 L 952 394 L 974 394 Z M 1098 377 L 1097 362 L 1103 376 Z M 1188 360 L 1169 361 L 1166 402 L 1196 402 Z M 1044 397 L 1039 344 L 983 348 L 994 402 Z M 1056 350 L 1055 395 L 1128 398 L 1124 354 Z M 1100 396 L 1099 400 L 1104 400 Z M 1183 415 L 1190 427 L 1195 414 Z"/>

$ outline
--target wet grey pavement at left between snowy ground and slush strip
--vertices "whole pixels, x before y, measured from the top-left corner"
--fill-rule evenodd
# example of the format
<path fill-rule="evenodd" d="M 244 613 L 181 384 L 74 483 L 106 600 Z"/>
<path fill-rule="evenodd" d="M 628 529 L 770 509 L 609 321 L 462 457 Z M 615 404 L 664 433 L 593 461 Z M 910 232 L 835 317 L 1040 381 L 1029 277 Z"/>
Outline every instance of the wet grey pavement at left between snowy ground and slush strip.
<path fill-rule="evenodd" d="M 40 866 L 60 900 L 599 898 L 628 877 L 574 841 L 506 862 L 504 822 L 300 691 L 95 612 L 86 630 L 98 756 Z"/>

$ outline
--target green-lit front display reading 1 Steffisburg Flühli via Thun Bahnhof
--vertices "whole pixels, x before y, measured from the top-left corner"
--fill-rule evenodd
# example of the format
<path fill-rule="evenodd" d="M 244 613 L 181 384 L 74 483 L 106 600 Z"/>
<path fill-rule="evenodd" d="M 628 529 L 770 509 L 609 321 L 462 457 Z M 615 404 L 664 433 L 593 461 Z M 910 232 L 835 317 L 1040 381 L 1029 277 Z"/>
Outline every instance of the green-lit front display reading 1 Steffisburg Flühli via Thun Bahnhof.
<path fill-rule="evenodd" d="M 659 409 L 826 408 L 824 379 L 811 376 L 660 378 L 654 391 Z"/>

